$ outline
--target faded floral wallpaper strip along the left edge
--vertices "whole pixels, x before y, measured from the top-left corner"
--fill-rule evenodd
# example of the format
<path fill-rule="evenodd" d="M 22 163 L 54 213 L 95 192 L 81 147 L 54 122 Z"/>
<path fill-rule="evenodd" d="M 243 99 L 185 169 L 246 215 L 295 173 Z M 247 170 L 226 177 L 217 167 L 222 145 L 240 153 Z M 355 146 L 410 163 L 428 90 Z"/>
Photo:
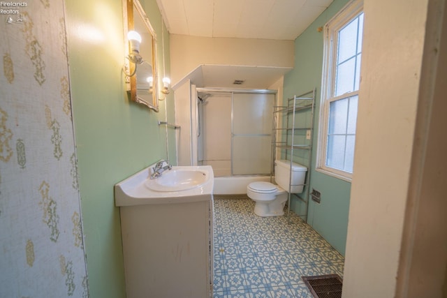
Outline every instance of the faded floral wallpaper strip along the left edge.
<path fill-rule="evenodd" d="M 88 297 L 64 1 L 20 3 L 0 14 L 0 297 Z"/>

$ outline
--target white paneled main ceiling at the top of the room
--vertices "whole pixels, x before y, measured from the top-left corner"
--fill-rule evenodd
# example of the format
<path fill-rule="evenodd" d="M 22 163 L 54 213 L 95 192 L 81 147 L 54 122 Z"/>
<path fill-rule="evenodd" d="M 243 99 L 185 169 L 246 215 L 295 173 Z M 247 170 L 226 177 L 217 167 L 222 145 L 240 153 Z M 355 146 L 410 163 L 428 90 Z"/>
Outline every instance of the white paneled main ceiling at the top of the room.
<path fill-rule="evenodd" d="M 156 0 L 169 33 L 295 40 L 333 0 Z"/>

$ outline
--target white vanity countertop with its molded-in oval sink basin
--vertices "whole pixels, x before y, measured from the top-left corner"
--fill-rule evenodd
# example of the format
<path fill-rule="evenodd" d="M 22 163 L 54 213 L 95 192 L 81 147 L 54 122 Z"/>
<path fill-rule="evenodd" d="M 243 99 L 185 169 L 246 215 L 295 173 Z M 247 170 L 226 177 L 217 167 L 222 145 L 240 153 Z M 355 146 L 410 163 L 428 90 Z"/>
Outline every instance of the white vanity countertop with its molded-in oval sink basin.
<path fill-rule="evenodd" d="M 115 205 L 170 204 L 210 200 L 214 173 L 210 165 L 173 167 L 150 179 L 147 167 L 115 184 Z"/>

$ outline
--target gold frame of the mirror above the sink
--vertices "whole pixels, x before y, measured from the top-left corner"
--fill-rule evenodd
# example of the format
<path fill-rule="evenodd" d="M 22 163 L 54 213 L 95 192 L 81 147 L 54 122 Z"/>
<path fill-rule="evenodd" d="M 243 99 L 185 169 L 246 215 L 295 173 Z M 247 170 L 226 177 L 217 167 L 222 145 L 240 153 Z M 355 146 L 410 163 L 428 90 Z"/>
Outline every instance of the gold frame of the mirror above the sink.
<path fill-rule="evenodd" d="M 158 75 L 157 75 L 157 68 L 156 68 L 156 33 L 154 29 L 152 28 L 151 23 L 149 22 L 149 17 L 147 17 L 145 10 L 143 10 L 140 1 L 138 0 L 123 0 L 123 10 L 124 10 L 124 18 L 127 22 L 124 22 L 124 36 L 126 38 L 126 53 L 130 52 L 130 46 L 129 42 L 127 40 L 127 32 L 131 30 L 139 31 L 141 29 L 135 28 L 135 19 L 134 19 L 134 12 L 139 14 L 139 17 L 141 17 L 142 22 L 145 24 L 145 30 L 147 30 L 146 33 L 149 33 L 149 35 L 152 37 L 152 53 L 142 52 L 140 51 L 140 55 L 145 62 L 149 62 L 152 64 L 152 97 L 150 96 L 150 93 L 148 93 L 147 89 L 143 92 L 146 94 L 140 94 L 138 92 L 137 88 L 137 76 L 138 76 L 138 68 L 142 68 L 142 64 L 136 66 L 137 72 L 135 75 L 131 77 L 126 77 L 126 85 L 127 85 L 127 92 L 131 98 L 131 100 L 135 101 L 135 103 L 140 103 L 142 105 L 146 105 L 149 107 L 149 109 L 154 110 L 155 112 L 159 112 L 159 97 L 158 97 Z M 138 16 L 135 16 L 138 17 Z M 142 35 L 142 31 L 139 32 Z M 144 43 L 145 40 L 142 40 L 142 43 Z M 150 56 L 150 57 L 149 57 Z M 143 62 L 143 63 L 145 63 Z M 128 69 L 128 73 L 133 73 L 135 71 L 135 64 L 132 62 L 129 62 L 128 59 L 126 59 L 126 68 Z"/>

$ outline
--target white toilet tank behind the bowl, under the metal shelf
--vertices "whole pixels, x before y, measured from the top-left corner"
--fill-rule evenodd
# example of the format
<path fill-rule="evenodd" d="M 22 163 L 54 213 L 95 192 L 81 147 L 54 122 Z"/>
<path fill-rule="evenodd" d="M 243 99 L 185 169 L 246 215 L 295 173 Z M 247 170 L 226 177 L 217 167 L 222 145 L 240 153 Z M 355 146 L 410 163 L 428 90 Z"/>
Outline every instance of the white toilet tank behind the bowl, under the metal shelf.
<path fill-rule="evenodd" d="M 288 191 L 290 174 L 292 173 L 291 193 L 302 193 L 304 188 L 307 167 L 298 163 L 292 163 L 285 159 L 274 161 L 274 179 L 281 188 Z"/>

